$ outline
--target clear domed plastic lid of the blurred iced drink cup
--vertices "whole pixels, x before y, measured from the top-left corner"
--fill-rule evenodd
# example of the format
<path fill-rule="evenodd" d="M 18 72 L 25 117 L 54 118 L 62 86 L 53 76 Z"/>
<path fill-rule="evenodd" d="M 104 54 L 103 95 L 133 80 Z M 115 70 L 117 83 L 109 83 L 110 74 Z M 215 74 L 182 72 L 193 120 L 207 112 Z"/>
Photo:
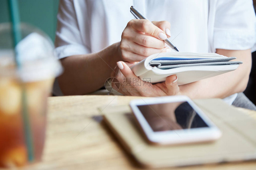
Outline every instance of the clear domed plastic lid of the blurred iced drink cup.
<path fill-rule="evenodd" d="M 26 82 L 59 76 L 63 68 L 54 55 L 51 39 L 27 24 L 22 23 L 20 31 L 23 37 L 15 50 L 8 45 L 12 43 L 0 40 L 0 76 L 18 77 Z M 10 24 L 0 24 L 0 39 L 3 36 L 5 41 L 12 41 Z M 20 63 L 19 68 L 15 66 L 15 54 Z"/>

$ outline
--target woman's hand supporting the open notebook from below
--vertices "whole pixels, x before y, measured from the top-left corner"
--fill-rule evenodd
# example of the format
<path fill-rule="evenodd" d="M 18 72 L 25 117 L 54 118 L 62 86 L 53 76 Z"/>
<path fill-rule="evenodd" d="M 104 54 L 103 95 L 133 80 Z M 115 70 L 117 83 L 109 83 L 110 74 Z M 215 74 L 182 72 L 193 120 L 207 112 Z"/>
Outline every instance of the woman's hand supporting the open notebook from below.
<path fill-rule="evenodd" d="M 134 64 L 128 63 L 129 66 Z M 179 86 L 177 84 L 178 77 L 176 75 L 171 75 L 166 78 L 165 82 L 151 84 L 147 82 L 148 80 L 142 81 L 138 78 L 129 66 L 123 62 L 117 62 L 119 69 L 116 72 L 112 72 L 111 77 L 115 77 L 120 82 L 120 88 L 118 92 L 127 96 L 171 96 L 171 95 L 181 95 L 179 91 Z M 114 84 L 112 84 L 114 87 Z"/>

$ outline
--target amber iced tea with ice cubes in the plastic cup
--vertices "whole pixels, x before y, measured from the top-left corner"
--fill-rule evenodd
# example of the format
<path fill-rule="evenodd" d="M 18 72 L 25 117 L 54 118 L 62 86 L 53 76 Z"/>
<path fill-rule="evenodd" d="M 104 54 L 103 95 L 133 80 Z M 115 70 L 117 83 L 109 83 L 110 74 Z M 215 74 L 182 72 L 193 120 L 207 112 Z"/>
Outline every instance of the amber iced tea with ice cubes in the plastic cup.
<path fill-rule="evenodd" d="M 53 79 L 21 82 L 15 78 L 0 77 L 0 167 L 22 166 L 29 162 L 22 117 L 22 89 L 26 93 L 33 162 L 41 159 L 45 141 L 46 98 L 52 83 Z"/>

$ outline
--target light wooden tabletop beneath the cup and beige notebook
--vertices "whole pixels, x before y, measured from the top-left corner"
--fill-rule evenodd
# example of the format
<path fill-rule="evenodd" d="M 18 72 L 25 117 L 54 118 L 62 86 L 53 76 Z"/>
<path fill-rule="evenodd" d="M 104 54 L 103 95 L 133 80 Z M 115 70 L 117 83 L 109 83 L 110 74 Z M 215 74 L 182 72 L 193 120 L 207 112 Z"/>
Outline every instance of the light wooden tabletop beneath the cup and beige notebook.
<path fill-rule="evenodd" d="M 124 152 L 102 120 L 99 108 L 128 104 L 132 96 L 49 97 L 43 161 L 22 169 L 141 169 Z M 256 119 L 255 112 L 245 114 Z M 175 168 L 172 168 L 175 169 Z M 256 169 L 256 161 L 179 167 L 185 169 Z"/>

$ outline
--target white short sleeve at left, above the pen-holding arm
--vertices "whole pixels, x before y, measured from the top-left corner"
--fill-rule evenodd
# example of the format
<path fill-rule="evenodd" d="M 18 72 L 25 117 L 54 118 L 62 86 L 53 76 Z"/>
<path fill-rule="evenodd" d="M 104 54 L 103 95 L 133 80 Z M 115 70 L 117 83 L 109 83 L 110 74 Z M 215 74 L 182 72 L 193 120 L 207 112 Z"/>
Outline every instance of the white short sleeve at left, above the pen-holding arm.
<path fill-rule="evenodd" d="M 59 59 L 90 53 L 85 46 L 77 23 L 73 0 L 60 0 L 55 36 L 55 54 Z"/>

